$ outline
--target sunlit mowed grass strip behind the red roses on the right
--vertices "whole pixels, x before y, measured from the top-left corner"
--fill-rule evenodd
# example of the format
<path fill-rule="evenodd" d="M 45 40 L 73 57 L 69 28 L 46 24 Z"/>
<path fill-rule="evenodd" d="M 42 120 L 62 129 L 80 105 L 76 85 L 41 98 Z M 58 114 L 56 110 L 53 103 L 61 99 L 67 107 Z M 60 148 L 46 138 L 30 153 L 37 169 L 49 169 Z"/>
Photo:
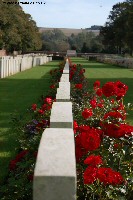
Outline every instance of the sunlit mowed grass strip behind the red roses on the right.
<path fill-rule="evenodd" d="M 85 77 L 89 82 L 89 89 L 93 88 L 93 83 L 100 80 L 101 86 L 109 81 L 117 81 L 128 85 L 127 94 L 124 97 L 124 103 L 133 103 L 133 69 L 126 69 L 111 64 L 88 61 L 84 58 L 72 58 L 73 63 L 81 64 L 85 68 Z M 133 125 L 133 111 L 128 112 L 127 121 Z"/>

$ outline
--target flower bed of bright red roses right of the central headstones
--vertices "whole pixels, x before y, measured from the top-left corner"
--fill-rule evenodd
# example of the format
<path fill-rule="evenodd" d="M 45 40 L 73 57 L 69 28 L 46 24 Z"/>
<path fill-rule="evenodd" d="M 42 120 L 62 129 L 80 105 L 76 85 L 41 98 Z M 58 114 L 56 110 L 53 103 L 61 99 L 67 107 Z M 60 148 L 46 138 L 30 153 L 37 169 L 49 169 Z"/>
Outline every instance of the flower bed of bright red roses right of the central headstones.
<path fill-rule="evenodd" d="M 119 80 L 93 90 L 81 65 L 71 63 L 71 99 L 77 160 L 77 199 L 132 199 L 132 133 Z"/>

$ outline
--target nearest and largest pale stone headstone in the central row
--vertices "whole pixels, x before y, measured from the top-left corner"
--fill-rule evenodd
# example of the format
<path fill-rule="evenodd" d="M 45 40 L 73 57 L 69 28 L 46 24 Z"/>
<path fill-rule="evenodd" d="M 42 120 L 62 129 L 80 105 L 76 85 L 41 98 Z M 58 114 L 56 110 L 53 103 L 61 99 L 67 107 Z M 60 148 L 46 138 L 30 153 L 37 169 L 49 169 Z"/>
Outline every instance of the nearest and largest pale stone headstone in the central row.
<path fill-rule="evenodd" d="M 39 146 L 33 187 L 33 200 L 76 200 L 72 129 L 45 129 Z"/>

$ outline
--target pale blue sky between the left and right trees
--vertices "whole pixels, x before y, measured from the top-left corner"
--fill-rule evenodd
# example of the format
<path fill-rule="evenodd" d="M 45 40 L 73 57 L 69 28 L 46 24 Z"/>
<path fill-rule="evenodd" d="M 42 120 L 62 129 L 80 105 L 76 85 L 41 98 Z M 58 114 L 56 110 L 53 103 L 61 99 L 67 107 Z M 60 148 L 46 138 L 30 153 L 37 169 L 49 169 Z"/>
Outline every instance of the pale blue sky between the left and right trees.
<path fill-rule="evenodd" d="M 124 0 L 19 1 L 31 3 L 20 3 L 20 5 L 25 13 L 29 13 L 32 16 L 38 27 L 80 29 L 90 28 L 92 25 L 104 26 L 112 6 Z"/>

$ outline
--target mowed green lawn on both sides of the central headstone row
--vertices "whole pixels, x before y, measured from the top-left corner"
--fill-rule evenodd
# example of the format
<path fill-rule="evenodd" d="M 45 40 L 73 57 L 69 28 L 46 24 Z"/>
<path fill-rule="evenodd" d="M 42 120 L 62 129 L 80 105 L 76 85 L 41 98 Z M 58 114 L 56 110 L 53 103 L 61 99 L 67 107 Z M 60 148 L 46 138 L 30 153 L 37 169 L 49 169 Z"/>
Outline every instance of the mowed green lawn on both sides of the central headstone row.
<path fill-rule="evenodd" d="M 128 85 L 129 89 L 125 96 L 124 103 L 133 103 L 133 70 L 125 69 L 110 64 L 88 61 L 83 58 L 72 58 L 75 64 L 83 65 L 85 77 L 89 82 L 89 89 L 96 80 L 101 84 L 108 81 L 117 81 Z M 32 68 L 18 73 L 14 76 L 0 80 L 0 180 L 8 172 L 8 164 L 15 155 L 17 147 L 17 134 L 11 131 L 11 113 L 26 113 L 26 109 L 33 103 L 37 103 L 42 94 L 47 93 L 50 86 L 49 71 L 58 66 L 59 61 L 47 63 L 44 66 Z M 26 115 L 25 115 L 26 117 Z M 133 125 L 133 111 L 129 112 L 128 119 Z"/>

